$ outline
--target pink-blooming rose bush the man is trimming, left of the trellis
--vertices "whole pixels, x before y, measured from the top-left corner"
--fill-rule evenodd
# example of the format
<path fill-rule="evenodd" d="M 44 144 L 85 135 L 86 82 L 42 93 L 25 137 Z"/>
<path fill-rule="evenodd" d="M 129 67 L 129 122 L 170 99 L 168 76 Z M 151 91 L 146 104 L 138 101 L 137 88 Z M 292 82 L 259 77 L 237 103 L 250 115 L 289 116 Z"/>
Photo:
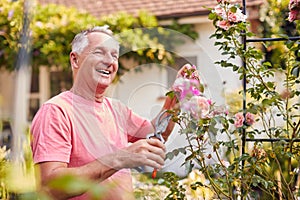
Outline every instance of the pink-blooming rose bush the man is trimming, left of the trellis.
<path fill-rule="evenodd" d="M 201 184 L 196 181 L 196 183 L 191 183 L 193 185 L 192 190 L 200 190 L 204 187 L 206 190 L 215 191 L 215 195 L 219 198 L 222 196 L 230 196 L 229 194 L 219 194 L 218 191 L 220 186 L 218 183 L 213 183 L 213 178 L 219 176 L 218 174 L 224 175 L 224 169 L 229 168 L 230 162 L 218 149 L 220 149 L 220 143 L 217 141 L 217 134 L 227 133 L 228 147 L 236 148 L 235 129 L 233 133 L 230 133 L 232 127 L 240 128 L 240 130 L 245 126 L 251 126 L 254 123 L 254 115 L 247 112 L 245 117 L 243 113 L 239 112 L 235 115 L 229 113 L 225 105 L 217 106 L 213 101 L 204 95 L 203 86 L 198 78 L 196 66 L 185 65 L 186 70 L 182 77 L 176 79 L 172 90 L 167 93 L 170 97 L 176 97 L 179 102 L 179 108 L 175 110 L 170 110 L 169 112 L 173 115 L 173 121 L 180 126 L 180 133 L 186 135 L 186 139 L 189 145 L 180 150 L 180 152 L 187 154 L 186 163 L 188 163 L 191 168 L 192 173 L 200 173 L 210 181 L 202 181 Z M 230 126 L 231 124 L 231 126 Z M 221 125 L 221 126 L 220 126 Z M 222 128 L 221 128 L 222 127 Z M 230 144 L 231 143 L 231 144 Z M 208 150 L 208 148 L 210 148 Z M 178 152 L 178 149 L 168 153 L 167 157 L 174 157 L 174 154 Z M 189 152 L 189 153 L 188 153 Z M 213 155 L 215 152 L 216 155 Z M 214 165 L 207 165 L 208 160 L 213 160 Z M 199 171 L 192 170 L 194 167 L 199 169 Z M 204 170 L 205 169 L 205 170 Z M 200 172 L 201 171 L 201 172 Z M 221 178 L 218 177 L 218 178 Z M 170 178 L 169 178 L 170 179 Z M 209 183 L 209 184 L 208 184 Z M 189 186 L 188 186 L 189 187 Z M 227 189 L 228 190 L 228 189 Z M 193 193 L 193 192 L 192 192 Z M 187 194 L 187 192 L 185 192 Z"/>

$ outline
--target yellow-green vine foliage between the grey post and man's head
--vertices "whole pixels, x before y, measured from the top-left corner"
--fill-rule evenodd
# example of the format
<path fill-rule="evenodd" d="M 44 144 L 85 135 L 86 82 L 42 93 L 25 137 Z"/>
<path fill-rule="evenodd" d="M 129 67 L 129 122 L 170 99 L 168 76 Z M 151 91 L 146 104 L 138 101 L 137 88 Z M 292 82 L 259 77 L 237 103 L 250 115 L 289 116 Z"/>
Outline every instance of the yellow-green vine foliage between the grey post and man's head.
<path fill-rule="evenodd" d="M 37 5 L 31 26 L 33 66 L 69 68 L 70 42 L 74 35 L 97 24 L 95 17 L 75 8 Z"/>

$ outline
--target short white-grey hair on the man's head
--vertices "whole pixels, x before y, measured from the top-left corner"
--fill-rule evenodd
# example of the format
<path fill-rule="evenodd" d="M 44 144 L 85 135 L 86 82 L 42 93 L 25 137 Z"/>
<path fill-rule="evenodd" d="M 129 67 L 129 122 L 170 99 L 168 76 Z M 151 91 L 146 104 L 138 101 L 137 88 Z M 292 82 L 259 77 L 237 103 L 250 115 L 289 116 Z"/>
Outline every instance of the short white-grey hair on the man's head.
<path fill-rule="evenodd" d="M 89 44 L 89 40 L 87 35 L 92 32 L 100 32 L 105 33 L 109 36 L 113 36 L 113 32 L 109 29 L 108 25 L 104 26 L 95 26 L 90 29 L 86 29 L 75 35 L 71 46 L 72 46 L 72 52 L 80 54 L 84 48 Z"/>

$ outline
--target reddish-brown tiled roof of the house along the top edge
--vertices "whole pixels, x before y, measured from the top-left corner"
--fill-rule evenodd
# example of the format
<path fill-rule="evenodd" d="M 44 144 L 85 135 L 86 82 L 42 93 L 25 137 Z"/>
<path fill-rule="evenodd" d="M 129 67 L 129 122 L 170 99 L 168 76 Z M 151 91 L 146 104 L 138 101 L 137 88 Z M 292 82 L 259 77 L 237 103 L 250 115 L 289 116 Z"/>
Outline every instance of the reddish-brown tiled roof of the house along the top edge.
<path fill-rule="evenodd" d="M 234 0 L 242 4 L 242 0 Z M 158 19 L 170 19 L 207 15 L 207 8 L 216 5 L 216 0 L 39 0 L 41 4 L 61 4 L 87 11 L 96 17 L 126 11 L 136 15 L 145 10 Z M 232 1 L 233 2 L 233 1 Z M 247 0 L 247 7 L 258 6 L 262 0 Z"/>

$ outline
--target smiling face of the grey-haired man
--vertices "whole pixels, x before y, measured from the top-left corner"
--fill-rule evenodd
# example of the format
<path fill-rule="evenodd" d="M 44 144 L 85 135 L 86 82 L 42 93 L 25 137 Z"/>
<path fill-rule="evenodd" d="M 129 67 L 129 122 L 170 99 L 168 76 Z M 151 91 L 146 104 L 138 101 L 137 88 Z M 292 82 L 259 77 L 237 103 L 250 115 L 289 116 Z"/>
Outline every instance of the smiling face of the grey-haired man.
<path fill-rule="evenodd" d="M 119 44 L 105 33 L 88 34 L 89 44 L 78 55 L 77 86 L 96 92 L 105 90 L 118 71 Z"/>

